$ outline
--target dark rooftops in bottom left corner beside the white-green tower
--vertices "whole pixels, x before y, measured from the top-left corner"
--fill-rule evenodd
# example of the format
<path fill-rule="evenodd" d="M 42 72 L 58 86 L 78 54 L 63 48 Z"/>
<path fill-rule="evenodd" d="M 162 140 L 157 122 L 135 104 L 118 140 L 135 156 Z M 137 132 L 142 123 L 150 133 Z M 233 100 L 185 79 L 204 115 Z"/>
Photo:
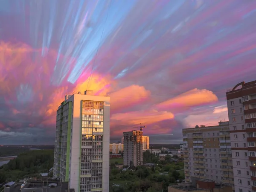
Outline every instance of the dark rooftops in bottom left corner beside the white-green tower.
<path fill-rule="evenodd" d="M 69 182 L 52 178 L 29 178 L 9 182 L 4 185 L 3 192 L 75 192 L 69 188 Z"/>

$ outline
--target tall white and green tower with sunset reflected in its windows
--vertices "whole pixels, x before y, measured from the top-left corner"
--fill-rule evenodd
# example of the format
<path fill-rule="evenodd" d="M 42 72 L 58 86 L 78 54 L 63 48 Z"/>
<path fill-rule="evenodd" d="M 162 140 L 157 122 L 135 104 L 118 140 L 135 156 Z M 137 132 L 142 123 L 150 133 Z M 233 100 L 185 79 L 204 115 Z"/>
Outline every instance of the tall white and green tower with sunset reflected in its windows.
<path fill-rule="evenodd" d="M 109 191 L 110 97 L 66 95 L 57 110 L 54 177 L 76 192 Z"/>

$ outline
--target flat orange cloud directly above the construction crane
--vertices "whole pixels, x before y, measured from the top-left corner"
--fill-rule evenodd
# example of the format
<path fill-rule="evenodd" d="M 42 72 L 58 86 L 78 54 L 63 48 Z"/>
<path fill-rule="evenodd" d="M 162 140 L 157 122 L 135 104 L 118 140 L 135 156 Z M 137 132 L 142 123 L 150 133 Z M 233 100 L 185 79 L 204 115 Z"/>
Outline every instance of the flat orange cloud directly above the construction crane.
<path fill-rule="evenodd" d="M 174 114 L 167 111 L 151 110 L 116 113 L 111 116 L 111 121 L 122 125 L 139 125 L 140 123 L 149 125 L 166 119 L 174 119 Z"/>

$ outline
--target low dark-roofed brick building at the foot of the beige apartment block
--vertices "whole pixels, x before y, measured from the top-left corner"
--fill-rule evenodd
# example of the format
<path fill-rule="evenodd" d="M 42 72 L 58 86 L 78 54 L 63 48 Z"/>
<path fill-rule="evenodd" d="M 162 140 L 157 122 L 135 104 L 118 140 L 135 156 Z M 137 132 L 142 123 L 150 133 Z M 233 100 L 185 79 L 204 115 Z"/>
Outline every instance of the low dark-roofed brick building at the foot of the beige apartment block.
<path fill-rule="evenodd" d="M 232 186 L 218 184 L 213 180 L 192 177 L 191 183 L 179 183 L 169 186 L 168 192 L 232 192 Z"/>

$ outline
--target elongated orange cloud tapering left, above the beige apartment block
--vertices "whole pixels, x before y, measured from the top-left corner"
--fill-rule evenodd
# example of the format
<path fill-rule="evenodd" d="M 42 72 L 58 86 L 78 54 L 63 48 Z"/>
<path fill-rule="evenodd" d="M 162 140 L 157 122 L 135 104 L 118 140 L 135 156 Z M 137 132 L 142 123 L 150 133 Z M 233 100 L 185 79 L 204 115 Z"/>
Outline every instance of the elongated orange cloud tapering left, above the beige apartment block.
<path fill-rule="evenodd" d="M 212 91 L 206 89 L 199 90 L 195 88 L 165 102 L 162 102 L 158 104 L 157 107 L 160 109 L 190 108 L 214 102 L 218 102 L 218 98 L 214 93 L 212 93 Z"/>

